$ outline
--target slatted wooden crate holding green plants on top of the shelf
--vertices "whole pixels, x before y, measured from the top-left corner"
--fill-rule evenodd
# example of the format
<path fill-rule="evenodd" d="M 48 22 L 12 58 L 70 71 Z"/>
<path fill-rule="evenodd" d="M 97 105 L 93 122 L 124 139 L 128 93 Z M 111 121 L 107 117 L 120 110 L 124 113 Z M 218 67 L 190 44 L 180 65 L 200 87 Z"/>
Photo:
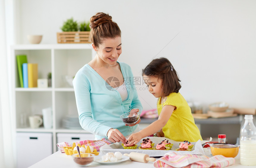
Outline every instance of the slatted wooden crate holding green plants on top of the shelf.
<path fill-rule="evenodd" d="M 58 43 L 91 43 L 90 31 L 57 32 Z"/>

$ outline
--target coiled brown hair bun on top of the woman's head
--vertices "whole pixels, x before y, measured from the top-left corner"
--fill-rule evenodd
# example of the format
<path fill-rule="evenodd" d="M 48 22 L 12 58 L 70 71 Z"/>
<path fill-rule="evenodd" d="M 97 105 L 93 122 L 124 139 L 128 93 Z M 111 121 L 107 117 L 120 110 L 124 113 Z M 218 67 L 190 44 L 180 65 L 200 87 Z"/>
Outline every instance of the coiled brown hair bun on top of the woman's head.
<path fill-rule="evenodd" d="M 99 12 L 90 18 L 90 28 L 96 28 L 101 24 L 112 22 L 112 16 Z"/>

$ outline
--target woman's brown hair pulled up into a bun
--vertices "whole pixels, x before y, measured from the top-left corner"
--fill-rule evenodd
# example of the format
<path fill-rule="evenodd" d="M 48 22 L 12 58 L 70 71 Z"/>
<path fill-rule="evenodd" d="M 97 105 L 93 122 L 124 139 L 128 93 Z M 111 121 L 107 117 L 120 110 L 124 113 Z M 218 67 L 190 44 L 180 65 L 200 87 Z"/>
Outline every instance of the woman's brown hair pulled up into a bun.
<path fill-rule="evenodd" d="M 90 28 L 90 40 L 96 47 L 99 47 L 104 39 L 121 37 L 121 30 L 117 23 L 112 21 L 112 16 L 103 12 L 90 18 Z"/>

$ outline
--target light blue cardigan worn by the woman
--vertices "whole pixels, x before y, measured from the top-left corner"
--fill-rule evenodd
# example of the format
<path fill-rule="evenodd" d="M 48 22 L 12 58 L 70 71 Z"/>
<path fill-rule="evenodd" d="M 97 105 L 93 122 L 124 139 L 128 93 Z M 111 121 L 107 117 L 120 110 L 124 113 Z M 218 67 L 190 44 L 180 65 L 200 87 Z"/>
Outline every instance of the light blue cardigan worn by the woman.
<path fill-rule="evenodd" d="M 137 128 L 137 125 L 125 126 L 120 119 L 121 114 L 132 109 L 141 112 L 142 105 L 133 84 L 131 67 L 119 64 L 128 91 L 128 99 L 123 102 L 120 93 L 111 91 L 111 86 L 88 64 L 79 69 L 73 80 L 80 125 L 95 134 L 95 139 L 107 138 L 111 128 L 118 129 L 124 136 Z"/>

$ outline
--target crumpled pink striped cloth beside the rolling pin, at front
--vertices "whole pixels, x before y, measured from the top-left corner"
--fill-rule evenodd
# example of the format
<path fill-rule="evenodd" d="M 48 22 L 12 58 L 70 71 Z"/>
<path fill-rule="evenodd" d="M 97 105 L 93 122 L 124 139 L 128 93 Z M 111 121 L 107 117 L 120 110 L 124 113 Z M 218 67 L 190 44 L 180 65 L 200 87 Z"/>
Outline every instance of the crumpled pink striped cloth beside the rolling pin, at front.
<path fill-rule="evenodd" d="M 165 156 L 154 162 L 154 167 L 221 168 L 232 164 L 235 164 L 234 158 L 226 158 L 222 155 L 209 158 L 207 156 L 168 152 Z"/>

